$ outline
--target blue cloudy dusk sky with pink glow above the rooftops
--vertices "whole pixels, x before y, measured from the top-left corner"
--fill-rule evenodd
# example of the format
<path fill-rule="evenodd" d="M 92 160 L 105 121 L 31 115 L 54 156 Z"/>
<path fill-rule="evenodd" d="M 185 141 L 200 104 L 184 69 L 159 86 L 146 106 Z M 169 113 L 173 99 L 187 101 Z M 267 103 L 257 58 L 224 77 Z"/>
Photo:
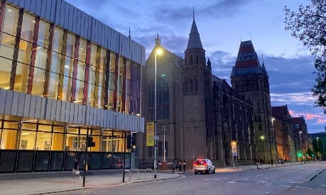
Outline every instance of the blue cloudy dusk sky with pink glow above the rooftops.
<path fill-rule="evenodd" d="M 195 8 L 202 46 L 217 77 L 231 83 L 240 41 L 252 40 L 268 72 L 272 106 L 287 104 L 292 117 L 304 116 L 308 133 L 325 130 L 326 116 L 322 108 L 313 107 L 310 92 L 314 57 L 284 30 L 284 6 L 295 11 L 308 0 L 66 1 L 124 35 L 130 27 L 131 38 L 146 47 L 147 55 L 159 34 L 161 45 L 182 57 Z"/>

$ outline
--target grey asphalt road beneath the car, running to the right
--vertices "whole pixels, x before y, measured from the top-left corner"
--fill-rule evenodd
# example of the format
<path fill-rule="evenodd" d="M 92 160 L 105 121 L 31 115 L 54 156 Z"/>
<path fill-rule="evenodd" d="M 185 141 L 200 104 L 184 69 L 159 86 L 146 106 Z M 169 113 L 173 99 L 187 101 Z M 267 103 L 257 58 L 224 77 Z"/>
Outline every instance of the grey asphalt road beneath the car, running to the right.
<path fill-rule="evenodd" d="M 251 169 L 216 174 L 183 174 L 178 179 L 86 189 L 65 194 L 326 194 L 326 163 Z"/>

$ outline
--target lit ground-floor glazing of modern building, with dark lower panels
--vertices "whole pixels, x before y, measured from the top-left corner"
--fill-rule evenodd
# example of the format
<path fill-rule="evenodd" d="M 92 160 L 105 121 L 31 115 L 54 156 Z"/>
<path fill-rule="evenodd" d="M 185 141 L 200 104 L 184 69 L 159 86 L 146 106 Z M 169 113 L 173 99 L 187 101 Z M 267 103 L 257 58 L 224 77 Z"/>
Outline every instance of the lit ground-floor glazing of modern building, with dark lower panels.
<path fill-rule="evenodd" d="M 85 153 L 87 128 L 40 124 L 36 121 L 0 123 L 0 172 L 67 170 L 75 157 L 81 160 Z M 95 143 L 95 147 L 88 148 L 92 156 L 89 159 L 91 169 L 121 168 L 122 159 L 116 158 L 123 157 L 124 151 L 130 155 L 131 151 L 125 149 L 128 134 L 88 128 L 88 135 Z M 8 158 L 11 155 L 15 157 Z M 69 160 L 72 162 L 66 162 Z M 25 165 L 21 161 L 28 163 Z M 8 163 L 12 165 L 8 166 Z M 130 168 L 130 162 L 128 165 L 126 167 Z"/>

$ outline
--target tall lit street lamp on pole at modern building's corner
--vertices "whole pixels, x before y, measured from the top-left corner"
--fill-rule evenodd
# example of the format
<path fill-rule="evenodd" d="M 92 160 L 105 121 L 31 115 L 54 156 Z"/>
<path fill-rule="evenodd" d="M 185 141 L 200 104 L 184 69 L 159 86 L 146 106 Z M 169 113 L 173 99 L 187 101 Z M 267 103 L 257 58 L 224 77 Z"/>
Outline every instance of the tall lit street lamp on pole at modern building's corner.
<path fill-rule="evenodd" d="M 157 113 L 156 113 L 156 63 L 157 63 L 157 55 L 162 54 L 161 48 L 156 48 L 154 55 L 155 55 L 155 91 L 154 91 L 154 138 L 156 138 L 156 123 L 157 123 Z M 158 145 L 156 139 L 154 140 L 154 178 L 156 179 L 156 172 L 158 169 L 157 165 L 157 157 L 158 157 Z"/>

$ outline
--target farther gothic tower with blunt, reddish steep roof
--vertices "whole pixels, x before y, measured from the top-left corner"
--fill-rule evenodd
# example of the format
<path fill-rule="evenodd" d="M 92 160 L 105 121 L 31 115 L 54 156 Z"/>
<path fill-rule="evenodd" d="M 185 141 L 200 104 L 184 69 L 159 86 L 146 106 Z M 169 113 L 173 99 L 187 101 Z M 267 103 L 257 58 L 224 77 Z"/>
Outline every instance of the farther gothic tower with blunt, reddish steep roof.
<path fill-rule="evenodd" d="M 232 68 L 231 82 L 232 88 L 254 106 L 257 158 L 267 163 L 271 158 L 276 160 L 268 74 L 265 66 L 260 64 L 251 40 L 240 44 L 237 62 Z"/>

